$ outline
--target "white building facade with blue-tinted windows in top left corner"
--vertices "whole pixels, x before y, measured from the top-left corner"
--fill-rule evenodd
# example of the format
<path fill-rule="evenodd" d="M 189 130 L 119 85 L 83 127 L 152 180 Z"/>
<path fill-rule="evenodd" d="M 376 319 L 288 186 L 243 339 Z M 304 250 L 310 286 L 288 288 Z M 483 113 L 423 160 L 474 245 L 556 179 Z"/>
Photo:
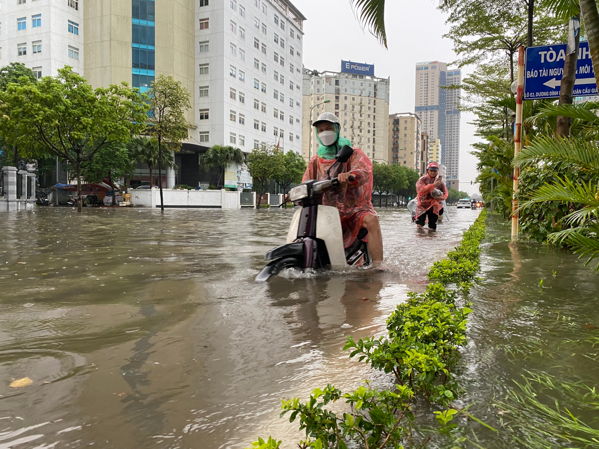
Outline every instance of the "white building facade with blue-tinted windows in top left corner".
<path fill-rule="evenodd" d="M 78 0 L 2 2 L 0 66 L 22 62 L 36 77 L 70 65 L 83 75 L 83 11 Z"/>

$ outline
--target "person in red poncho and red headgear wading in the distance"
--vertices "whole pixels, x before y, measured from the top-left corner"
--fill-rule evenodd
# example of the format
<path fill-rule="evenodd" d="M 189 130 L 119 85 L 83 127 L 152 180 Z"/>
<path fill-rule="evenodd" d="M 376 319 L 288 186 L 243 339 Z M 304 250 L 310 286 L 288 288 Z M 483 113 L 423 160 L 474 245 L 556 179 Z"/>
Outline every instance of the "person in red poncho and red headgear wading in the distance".
<path fill-rule="evenodd" d="M 418 193 L 418 207 L 416 207 L 416 227 L 422 229 L 428 217 L 429 229 L 437 229 L 437 220 L 443 214 L 441 201 L 447 199 L 447 187 L 443 184 L 443 177 L 438 176 L 439 165 L 437 162 L 428 164 L 426 174 L 416 183 Z"/>

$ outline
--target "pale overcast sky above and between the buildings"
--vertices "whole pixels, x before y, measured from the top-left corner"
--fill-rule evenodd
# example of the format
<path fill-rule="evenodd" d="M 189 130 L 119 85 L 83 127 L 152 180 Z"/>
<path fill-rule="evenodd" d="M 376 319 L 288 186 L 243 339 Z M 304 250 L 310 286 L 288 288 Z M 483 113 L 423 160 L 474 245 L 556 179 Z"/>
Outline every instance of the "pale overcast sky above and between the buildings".
<path fill-rule="evenodd" d="M 341 59 L 374 64 L 374 75 L 391 77 L 389 113 L 414 112 L 415 65 L 456 59 L 450 40 L 443 38 L 448 30 L 445 15 L 437 2 L 430 0 L 387 0 L 385 24 L 388 50 L 373 35 L 362 31 L 349 0 L 292 0 L 307 18 L 304 22 L 304 66 L 319 71 L 340 71 Z M 462 68 L 462 77 L 471 68 Z M 460 189 L 477 192 L 470 181 L 476 178 L 476 157 L 471 144 L 479 141 L 474 126 L 468 125 L 473 115 L 462 113 L 460 135 Z"/>

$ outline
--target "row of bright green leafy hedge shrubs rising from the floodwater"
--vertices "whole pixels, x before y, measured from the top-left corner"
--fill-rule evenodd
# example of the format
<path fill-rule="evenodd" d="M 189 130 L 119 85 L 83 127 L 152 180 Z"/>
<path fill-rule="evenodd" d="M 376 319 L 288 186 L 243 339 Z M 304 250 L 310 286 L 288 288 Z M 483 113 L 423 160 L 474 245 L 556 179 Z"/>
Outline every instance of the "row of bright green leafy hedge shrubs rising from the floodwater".
<path fill-rule="evenodd" d="M 329 384 L 314 390 L 307 402 L 283 400 L 281 416 L 289 413 L 290 422 L 299 418 L 299 429 L 305 430 L 308 438 L 299 442 L 299 449 L 347 449 L 348 444 L 368 449 L 426 445 L 428 440 L 419 444 L 412 441 L 412 401 L 420 393 L 434 404 L 447 406 L 458 394 L 453 369 L 459 348 L 466 344 L 467 316 L 472 312 L 470 304 L 459 305 L 459 295 L 471 286 L 479 269 L 485 216 L 483 211 L 447 259 L 434 263 L 429 272 L 434 283 L 420 295 L 410 292 L 406 303 L 397 306 L 387 320 L 385 337 L 357 342 L 347 338 L 344 350 L 352 350 L 350 357 L 358 356 L 373 368 L 393 373 L 397 381 L 394 389 L 373 389 L 367 382 L 343 394 Z M 450 289 L 450 284 L 458 287 Z M 341 398 L 349 404 L 349 411 L 342 416 L 325 408 Z M 457 411 L 451 408 L 434 413 L 447 428 L 453 426 L 448 423 Z M 259 439 L 249 449 L 277 449 L 279 445 L 272 438 L 268 442 Z"/>

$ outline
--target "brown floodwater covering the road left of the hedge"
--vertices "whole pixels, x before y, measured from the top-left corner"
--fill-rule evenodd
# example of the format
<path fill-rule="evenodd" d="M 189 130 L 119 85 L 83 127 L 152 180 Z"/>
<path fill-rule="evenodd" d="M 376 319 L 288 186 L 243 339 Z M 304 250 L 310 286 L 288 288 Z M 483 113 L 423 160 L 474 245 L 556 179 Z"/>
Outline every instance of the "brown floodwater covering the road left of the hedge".
<path fill-rule="evenodd" d="M 372 378 L 346 336 L 383 329 L 478 213 L 429 234 L 382 208 L 386 272 L 262 284 L 291 210 L 1 214 L 0 449 L 295 447 L 280 399 Z"/>

